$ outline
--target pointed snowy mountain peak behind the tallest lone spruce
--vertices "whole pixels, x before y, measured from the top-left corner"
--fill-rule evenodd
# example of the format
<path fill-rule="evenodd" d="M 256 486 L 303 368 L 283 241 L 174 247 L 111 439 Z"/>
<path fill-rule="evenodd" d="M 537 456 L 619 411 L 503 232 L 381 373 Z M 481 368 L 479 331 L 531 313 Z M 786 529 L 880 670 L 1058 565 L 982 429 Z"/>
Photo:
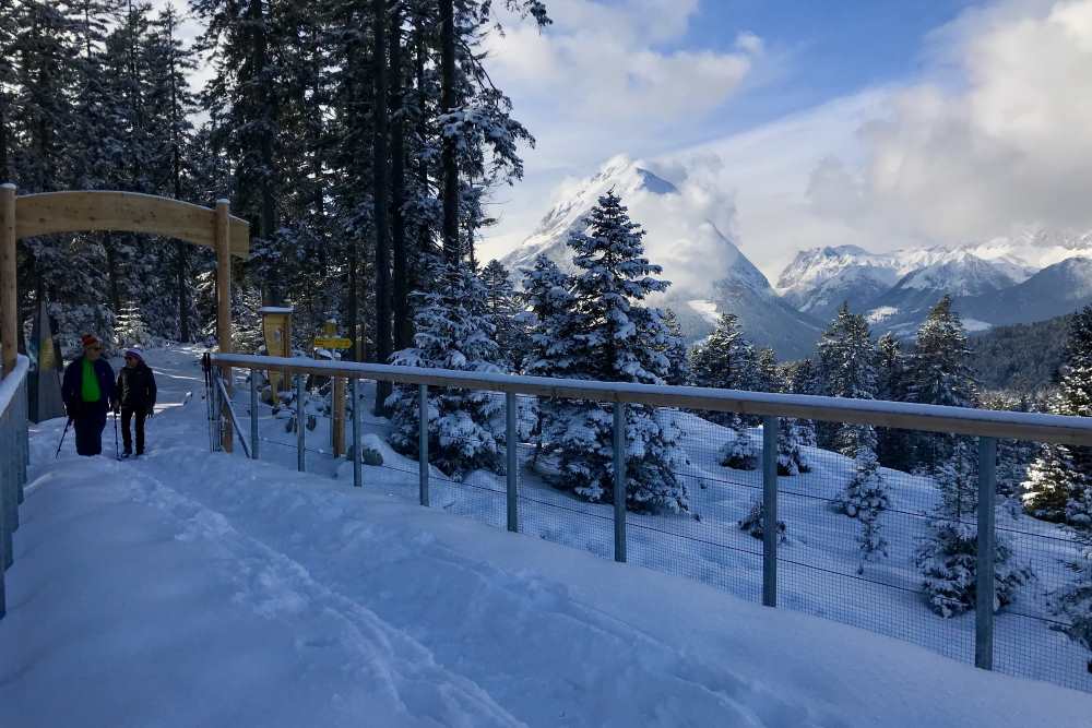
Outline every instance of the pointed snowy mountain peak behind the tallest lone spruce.
<path fill-rule="evenodd" d="M 818 322 L 781 300 L 726 231 L 696 211 L 674 184 L 626 156 L 610 159 L 569 190 L 501 262 L 517 277 L 539 254 L 571 271 L 569 236 L 586 225 L 587 213 L 608 190 L 621 196 L 631 217 L 648 231 L 649 259 L 674 283 L 662 302 L 679 315 L 690 341 L 712 331 L 717 312 L 733 312 L 751 341 L 774 347 L 782 357 L 805 356 L 811 349 Z"/>

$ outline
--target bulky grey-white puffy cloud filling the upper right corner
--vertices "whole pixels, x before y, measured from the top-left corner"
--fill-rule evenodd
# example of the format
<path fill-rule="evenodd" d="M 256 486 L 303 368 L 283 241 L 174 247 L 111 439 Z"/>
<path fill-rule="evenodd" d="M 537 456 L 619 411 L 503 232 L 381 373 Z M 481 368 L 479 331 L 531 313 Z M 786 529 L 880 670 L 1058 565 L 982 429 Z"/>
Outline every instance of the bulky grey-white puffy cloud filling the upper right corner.
<path fill-rule="evenodd" d="M 953 25 L 962 84 L 907 88 L 867 123 L 865 203 L 943 242 L 1092 227 L 1092 0 L 1020 2 Z"/>

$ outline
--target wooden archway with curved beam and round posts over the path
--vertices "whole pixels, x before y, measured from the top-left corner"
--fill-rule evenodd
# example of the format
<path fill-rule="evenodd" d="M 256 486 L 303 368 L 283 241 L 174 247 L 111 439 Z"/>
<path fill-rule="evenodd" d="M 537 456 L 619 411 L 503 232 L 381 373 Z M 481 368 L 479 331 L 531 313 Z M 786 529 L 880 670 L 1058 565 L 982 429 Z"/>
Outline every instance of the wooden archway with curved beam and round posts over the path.
<path fill-rule="evenodd" d="M 250 253 L 250 225 L 229 213 L 227 200 L 214 210 L 136 192 L 45 192 L 16 196 L 0 184 L 0 341 L 3 373 L 15 367 L 19 301 L 15 243 L 55 232 L 146 232 L 186 240 L 216 251 L 216 337 L 232 351 L 232 255 Z"/>

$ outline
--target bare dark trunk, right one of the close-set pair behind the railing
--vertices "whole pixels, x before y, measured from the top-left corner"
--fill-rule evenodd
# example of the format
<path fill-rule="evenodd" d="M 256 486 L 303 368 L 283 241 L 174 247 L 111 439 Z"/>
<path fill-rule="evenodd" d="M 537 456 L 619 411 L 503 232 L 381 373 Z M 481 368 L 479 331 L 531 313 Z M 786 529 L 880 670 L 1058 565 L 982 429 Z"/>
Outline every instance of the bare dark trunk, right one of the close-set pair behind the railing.
<path fill-rule="evenodd" d="M 410 321 L 410 265 L 406 250 L 405 206 L 405 80 L 402 69 L 402 9 L 394 7 L 391 17 L 391 108 L 394 124 L 391 130 L 391 244 L 394 254 L 394 348 L 402 350 L 413 339 Z"/>

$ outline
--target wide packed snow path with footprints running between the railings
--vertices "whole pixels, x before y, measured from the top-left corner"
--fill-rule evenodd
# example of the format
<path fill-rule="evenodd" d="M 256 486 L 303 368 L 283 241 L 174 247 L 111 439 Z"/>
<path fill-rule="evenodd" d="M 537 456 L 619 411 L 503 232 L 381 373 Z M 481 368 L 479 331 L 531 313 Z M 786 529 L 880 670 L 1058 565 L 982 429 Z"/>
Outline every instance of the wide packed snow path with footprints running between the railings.
<path fill-rule="evenodd" d="M 1092 696 L 207 452 L 150 355 L 135 462 L 52 451 L 0 621 L 2 726 L 1087 726 Z M 107 432 L 107 437 L 112 433 Z M 110 449 L 107 447 L 109 451 Z"/>

